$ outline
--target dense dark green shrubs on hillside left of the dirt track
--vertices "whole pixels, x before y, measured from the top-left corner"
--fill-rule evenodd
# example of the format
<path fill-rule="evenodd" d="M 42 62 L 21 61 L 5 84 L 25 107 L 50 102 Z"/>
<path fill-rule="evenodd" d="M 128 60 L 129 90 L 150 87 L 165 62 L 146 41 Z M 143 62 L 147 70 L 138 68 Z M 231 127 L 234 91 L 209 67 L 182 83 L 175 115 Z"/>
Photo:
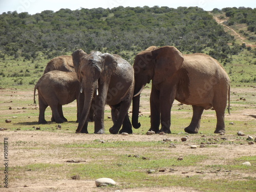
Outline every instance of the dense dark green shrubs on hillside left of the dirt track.
<path fill-rule="evenodd" d="M 170 45 L 192 53 L 208 48 L 212 56 L 223 59 L 232 54 L 226 46 L 232 41 L 233 37 L 198 7 L 120 6 L 0 15 L 0 51 L 15 58 L 35 59 L 39 51 L 52 58 L 78 48 L 136 53 L 152 45 Z"/>

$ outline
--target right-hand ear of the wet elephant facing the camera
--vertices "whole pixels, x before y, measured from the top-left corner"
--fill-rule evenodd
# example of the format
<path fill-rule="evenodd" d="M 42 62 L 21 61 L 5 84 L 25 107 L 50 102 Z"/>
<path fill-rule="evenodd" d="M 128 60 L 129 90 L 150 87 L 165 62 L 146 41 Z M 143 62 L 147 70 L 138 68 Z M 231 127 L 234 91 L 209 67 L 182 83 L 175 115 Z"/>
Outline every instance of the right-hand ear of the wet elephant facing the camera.
<path fill-rule="evenodd" d="M 115 56 L 109 53 L 103 53 L 101 55 L 103 59 L 102 72 L 100 76 L 100 83 L 110 81 L 111 75 L 116 71 L 117 68 L 117 59 Z"/>

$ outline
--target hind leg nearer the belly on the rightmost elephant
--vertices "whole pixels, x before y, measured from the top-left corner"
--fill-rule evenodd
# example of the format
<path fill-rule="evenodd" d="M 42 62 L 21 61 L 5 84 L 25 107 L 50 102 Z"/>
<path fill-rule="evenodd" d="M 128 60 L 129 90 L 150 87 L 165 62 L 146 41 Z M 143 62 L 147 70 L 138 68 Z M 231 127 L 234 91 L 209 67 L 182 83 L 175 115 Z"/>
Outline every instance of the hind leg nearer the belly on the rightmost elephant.
<path fill-rule="evenodd" d="M 202 106 L 192 105 L 193 107 L 193 117 L 190 124 L 184 129 L 186 133 L 198 133 L 201 116 L 203 114 L 204 108 Z"/>

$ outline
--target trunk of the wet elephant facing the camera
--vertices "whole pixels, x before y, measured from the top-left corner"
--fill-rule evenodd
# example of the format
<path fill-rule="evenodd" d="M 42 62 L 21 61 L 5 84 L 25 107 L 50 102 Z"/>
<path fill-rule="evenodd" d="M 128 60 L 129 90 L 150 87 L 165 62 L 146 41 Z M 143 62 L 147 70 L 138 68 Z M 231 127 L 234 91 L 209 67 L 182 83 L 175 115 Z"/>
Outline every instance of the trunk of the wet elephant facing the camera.
<path fill-rule="evenodd" d="M 79 123 L 78 123 L 76 133 L 81 132 L 84 124 L 87 121 L 87 117 L 90 112 L 95 89 L 94 89 L 94 86 L 93 87 L 91 86 L 91 88 L 84 89 L 83 91 L 84 91 L 84 103 L 83 103 L 82 113 L 80 114 L 80 117 L 79 117 Z"/>

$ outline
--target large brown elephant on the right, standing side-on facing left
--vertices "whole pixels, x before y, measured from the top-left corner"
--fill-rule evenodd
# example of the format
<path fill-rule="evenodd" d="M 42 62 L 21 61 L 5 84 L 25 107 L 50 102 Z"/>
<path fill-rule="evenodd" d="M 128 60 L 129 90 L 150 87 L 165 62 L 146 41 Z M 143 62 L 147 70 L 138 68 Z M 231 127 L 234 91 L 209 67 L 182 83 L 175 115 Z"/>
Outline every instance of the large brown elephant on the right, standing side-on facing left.
<path fill-rule="evenodd" d="M 216 59 L 202 53 L 183 55 L 173 46 L 153 47 L 138 53 L 133 67 L 135 94 L 132 124 L 135 129 L 140 127 L 140 93 L 145 84 L 152 80 L 150 131 L 171 133 L 170 111 L 176 99 L 193 107 L 191 122 L 184 129 L 186 133 L 198 133 L 203 111 L 212 107 L 217 115 L 214 133 L 225 133 L 227 99 L 230 114 L 230 79 Z"/>

